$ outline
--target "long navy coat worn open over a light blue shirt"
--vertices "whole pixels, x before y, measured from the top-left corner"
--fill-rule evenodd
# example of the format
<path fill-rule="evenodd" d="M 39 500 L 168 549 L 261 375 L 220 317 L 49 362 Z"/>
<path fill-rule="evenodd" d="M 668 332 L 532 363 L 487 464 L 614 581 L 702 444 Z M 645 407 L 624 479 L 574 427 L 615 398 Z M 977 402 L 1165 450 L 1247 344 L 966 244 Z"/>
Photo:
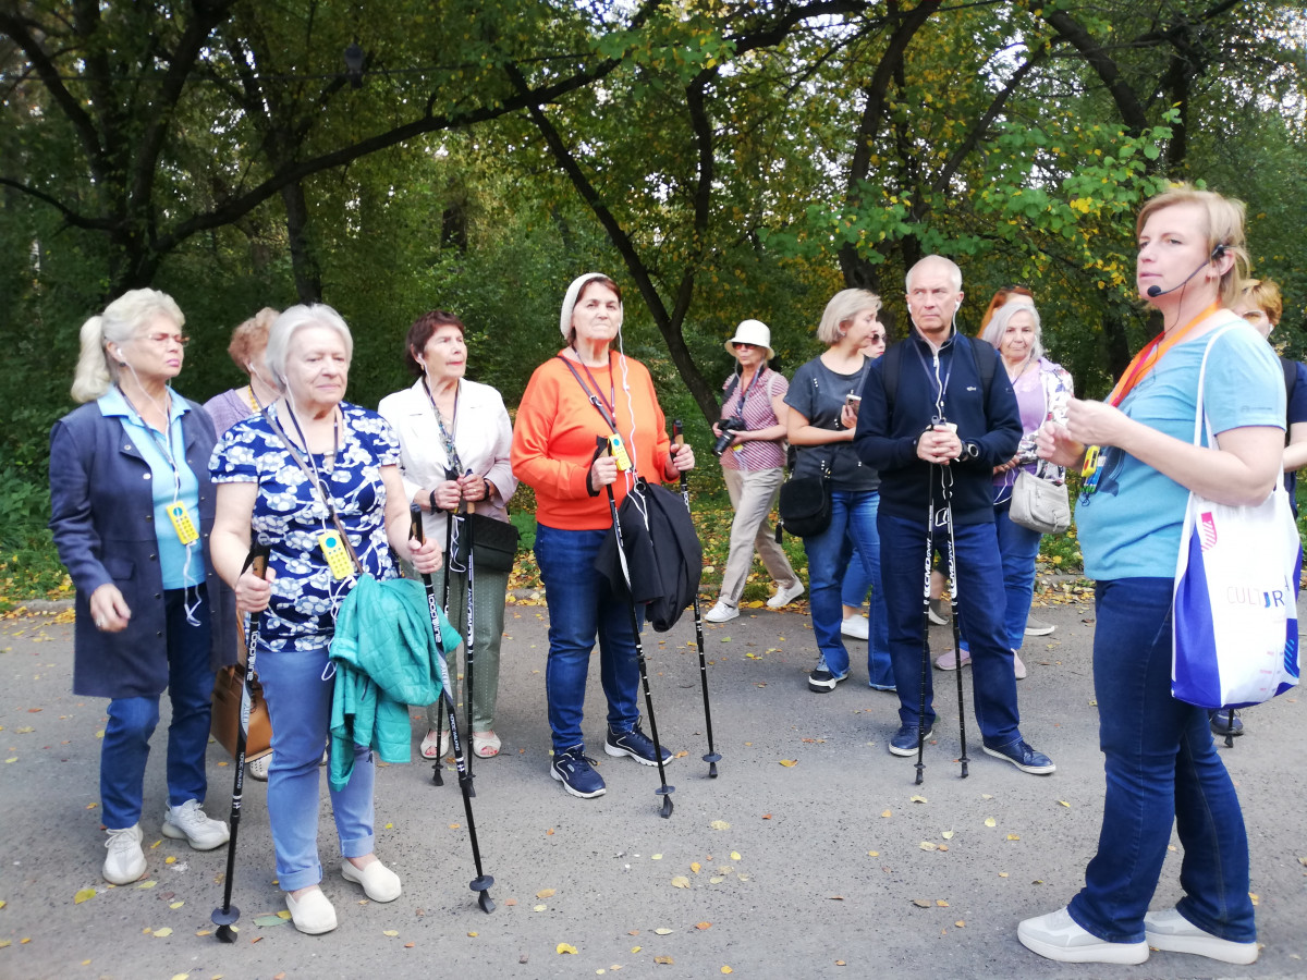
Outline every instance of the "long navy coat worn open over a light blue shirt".
<path fill-rule="evenodd" d="M 209 456 L 217 436 L 196 402 L 182 416 L 186 464 L 200 483 L 204 579 L 210 601 L 209 666 L 234 664 L 235 600 L 213 571 L 214 486 Z M 154 529 L 150 466 L 116 417 L 94 401 L 69 412 L 50 430 L 50 529 L 59 558 L 77 588 L 73 693 L 93 698 L 157 696 L 167 687 L 163 574 Z M 166 533 L 173 533 L 171 528 Z M 132 618 L 122 632 L 101 632 L 90 595 L 114 583 Z"/>

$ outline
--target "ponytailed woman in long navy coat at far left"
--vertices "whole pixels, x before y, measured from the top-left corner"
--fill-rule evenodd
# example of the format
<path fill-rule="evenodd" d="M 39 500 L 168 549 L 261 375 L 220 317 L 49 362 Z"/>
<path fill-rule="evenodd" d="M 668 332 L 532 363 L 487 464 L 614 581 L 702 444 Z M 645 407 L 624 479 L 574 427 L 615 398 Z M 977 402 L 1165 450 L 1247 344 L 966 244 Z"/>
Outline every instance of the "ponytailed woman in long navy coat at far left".
<path fill-rule="evenodd" d="M 99 784 L 103 875 L 115 885 L 145 873 L 145 763 L 165 687 L 162 832 L 197 851 L 227 840 L 200 805 L 213 673 L 235 661 L 235 608 L 208 558 L 213 423 L 169 384 L 182 370 L 184 321 L 150 289 L 88 320 L 72 388 L 85 404 L 50 433 L 50 528 L 77 589 L 73 693 L 110 698 Z"/>

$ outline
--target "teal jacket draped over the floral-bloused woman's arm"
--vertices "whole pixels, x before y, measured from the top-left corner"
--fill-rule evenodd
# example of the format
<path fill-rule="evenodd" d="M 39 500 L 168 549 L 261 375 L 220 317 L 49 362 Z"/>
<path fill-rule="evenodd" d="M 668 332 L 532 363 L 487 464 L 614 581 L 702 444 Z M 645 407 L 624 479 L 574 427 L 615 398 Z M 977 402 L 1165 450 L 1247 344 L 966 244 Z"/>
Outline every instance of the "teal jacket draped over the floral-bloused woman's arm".
<path fill-rule="evenodd" d="M 463 639 L 440 613 L 444 649 Z M 409 704 L 440 696 L 442 656 L 431 631 L 426 592 L 413 579 L 378 581 L 363 575 L 341 602 L 331 659 L 336 693 L 331 710 L 331 785 L 340 791 L 354 770 L 354 745 L 383 762 L 408 762 Z"/>

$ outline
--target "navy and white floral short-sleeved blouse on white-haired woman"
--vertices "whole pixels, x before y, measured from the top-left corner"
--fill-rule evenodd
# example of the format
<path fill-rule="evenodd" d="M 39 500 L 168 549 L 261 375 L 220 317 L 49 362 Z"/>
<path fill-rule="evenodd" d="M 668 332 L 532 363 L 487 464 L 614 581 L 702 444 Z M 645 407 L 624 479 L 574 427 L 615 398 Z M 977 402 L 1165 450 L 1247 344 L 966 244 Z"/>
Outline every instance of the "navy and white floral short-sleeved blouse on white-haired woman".
<path fill-rule="evenodd" d="M 382 466 L 397 465 L 400 446 L 375 412 L 341 402 L 344 425 L 335 466 L 327 453 L 301 453 L 316 465 L 331 489 L 336 515 L 363 571 L 378 580 L 396 578 L 386 538 L 386 485 Z M 278 418 L 278 425 L 289 419 Z M 254 533 L 272 553 L 276 572 L 272 601 L 259 622 L 260 647 L 314 649 L 331 642 L 336 610 L 354 588 L 354 579 L 336 579 L 327 567 L 319 537 L 333 531 L 331 515 L 314 481 L 295 464 L 285 443 L 261 416 L 237 422 L 218 440 L 209 461 L 216 483 L 259 483 Z"/>

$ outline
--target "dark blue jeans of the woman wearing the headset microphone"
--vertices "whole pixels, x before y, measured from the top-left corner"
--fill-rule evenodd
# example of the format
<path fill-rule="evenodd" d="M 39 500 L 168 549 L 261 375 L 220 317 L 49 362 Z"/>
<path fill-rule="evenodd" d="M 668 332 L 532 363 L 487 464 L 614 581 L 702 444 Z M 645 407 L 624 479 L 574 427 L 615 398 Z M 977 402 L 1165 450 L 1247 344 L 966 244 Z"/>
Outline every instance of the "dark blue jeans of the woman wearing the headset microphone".
<path fill-rule="evenodd" d="M 1239 797 L 1208 712 L 1171 696 L 1171 579 L 1098 583 L 1094 693 L 1107 798 L 1098 853 L 1069 911 L 1100 939 L 1141 941 L 1174 819 L 1184 855 L 1176 908 L 1214 936 L 1252 942 Z"/>

